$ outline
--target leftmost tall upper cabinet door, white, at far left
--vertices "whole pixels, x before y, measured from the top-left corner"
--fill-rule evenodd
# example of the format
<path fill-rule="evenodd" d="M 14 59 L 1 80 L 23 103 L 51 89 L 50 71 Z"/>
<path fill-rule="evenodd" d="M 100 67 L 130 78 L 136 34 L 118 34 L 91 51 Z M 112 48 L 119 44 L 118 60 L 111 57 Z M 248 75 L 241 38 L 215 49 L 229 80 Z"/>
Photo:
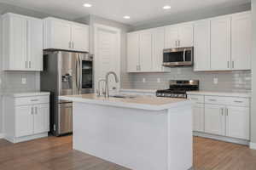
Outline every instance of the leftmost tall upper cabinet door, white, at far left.
<path fill-rule="evenodd" d="M 4 23 L 7 24 L 7 23 Z M 7 70 L 25 71 L 27 69 L 27 30 L 26 19 L 10 16 L 9 26 L 9 67 Z M 4 43 L 4 42 L 3 42 Z M 5 48 L 5 47 L 4 47 Z"/>

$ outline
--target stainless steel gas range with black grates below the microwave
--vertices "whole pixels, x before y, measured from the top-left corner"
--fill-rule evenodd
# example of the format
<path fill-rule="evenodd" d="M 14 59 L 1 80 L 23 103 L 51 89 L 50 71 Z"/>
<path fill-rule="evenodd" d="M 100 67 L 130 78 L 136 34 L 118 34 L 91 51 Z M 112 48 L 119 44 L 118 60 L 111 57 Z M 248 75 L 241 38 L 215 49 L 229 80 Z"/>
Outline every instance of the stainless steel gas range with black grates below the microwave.
<path fill-rule="evenodd" d="M 170 88 L 157 90 L 157 97 L 187 98 L 188 91 L 199 90 L 199 80 L 171 80 Z"/>

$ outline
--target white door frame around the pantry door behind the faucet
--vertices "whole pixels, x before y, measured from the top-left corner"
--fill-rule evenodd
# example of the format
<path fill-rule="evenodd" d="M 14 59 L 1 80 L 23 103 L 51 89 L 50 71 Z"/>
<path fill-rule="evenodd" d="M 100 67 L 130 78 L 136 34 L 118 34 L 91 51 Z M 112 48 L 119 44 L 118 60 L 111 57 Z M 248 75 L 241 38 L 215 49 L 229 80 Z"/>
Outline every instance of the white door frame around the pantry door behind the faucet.
<path fill-rule="evenodd" d="M 96 92 L 96 89 L 97 89 L 97 79 L 96 77 L 98 76 L 97 75 L 97 71 L 96 71 L 96 68 L 97 68 L 97 63 L 99 63 L 99 60 L 98 60 L 98 51 L 97 51 L 97 47 L 98 47 L 98 42 L 97 42 L 97 31 L 98 30 L 106 30 L 106 31 L 112 31 L 112 32 L 116 32 L 117 34 L 117 46 L 118 46 L 118 49 L 117 49 L 117 58 L 118 58 L 118 63 L 119 63 L 119 66 L 117 67 L 118 71 L 116 72 L 118 78 L 119 78 L 119 85 L 118 85 L 118 89 L 120 88 L 120 74 L 121 74 L 121 30 L 119 28 L 116 28 L 116 27 L 112 27 L 112 26 L 105 26 L 105 25 L 102 25 L 102 24 L 94 24 L 93 25 L 94 29 L 94 90 Z"/>

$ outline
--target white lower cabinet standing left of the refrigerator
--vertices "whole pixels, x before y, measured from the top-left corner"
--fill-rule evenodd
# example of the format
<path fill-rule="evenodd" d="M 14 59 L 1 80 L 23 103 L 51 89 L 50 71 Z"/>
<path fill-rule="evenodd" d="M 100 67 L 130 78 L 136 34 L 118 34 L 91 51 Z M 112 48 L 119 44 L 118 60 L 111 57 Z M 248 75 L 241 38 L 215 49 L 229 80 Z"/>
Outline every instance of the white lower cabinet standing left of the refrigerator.
<path fill-rule="evenodd" d="M 17 143 L 48 136 L 49 94 L 4 97 L 5 139 Z"/>

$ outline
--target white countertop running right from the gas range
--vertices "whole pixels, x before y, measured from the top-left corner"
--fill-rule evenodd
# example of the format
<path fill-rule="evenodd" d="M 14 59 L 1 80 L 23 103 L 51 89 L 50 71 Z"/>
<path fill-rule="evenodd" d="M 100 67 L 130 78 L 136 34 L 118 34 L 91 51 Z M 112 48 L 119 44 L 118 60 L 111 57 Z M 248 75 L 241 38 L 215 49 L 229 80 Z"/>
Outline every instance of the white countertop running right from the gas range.
<path fill-rule="evenodd" d="M 187 92 L 187 94 L 239 97 L 239 98 L 250 98 L 251 97 L 251 93 L 236 93 L 236 92 L 190 91 L 190 92 Z"/>

